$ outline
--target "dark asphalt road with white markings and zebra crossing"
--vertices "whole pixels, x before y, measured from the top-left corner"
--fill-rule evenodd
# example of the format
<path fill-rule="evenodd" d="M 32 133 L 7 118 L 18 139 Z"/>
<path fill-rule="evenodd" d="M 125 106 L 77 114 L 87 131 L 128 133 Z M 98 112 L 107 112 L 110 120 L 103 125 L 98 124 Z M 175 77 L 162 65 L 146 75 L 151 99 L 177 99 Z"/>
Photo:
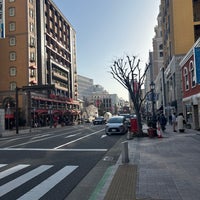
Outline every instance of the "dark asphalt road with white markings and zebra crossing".
<path fill-rule="evenodd" d="M 117 161 L 124 137 L 86 124 L 1 138 L 0 199 L 65 199 L 97 163 Z M 100 178 L 88 184 L 94 187 Z"/>

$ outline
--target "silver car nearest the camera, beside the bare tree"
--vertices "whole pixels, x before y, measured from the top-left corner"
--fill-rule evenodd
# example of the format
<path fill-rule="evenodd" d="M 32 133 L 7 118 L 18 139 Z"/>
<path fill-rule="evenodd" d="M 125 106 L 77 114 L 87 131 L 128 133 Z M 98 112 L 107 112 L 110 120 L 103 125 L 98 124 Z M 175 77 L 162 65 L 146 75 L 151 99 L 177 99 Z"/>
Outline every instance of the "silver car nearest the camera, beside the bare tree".
<path fill-rule="evenodd" d="M 125 134 L 128 132 L 128 122 L 124 116 L 111 117 L 105 127 L 107 135 L 111 134 Z"/>

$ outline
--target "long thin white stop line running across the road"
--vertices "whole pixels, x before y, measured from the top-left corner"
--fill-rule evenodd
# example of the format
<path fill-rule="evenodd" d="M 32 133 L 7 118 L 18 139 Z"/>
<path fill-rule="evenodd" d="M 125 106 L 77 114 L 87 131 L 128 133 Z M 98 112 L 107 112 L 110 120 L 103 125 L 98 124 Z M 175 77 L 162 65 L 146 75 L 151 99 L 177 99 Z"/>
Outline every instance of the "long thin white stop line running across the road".
<path fill-rule="evenodd" d="M 108 149 L 41 149 L 41 148 L 2 148 L 0 151 L 107 151 Z"/>

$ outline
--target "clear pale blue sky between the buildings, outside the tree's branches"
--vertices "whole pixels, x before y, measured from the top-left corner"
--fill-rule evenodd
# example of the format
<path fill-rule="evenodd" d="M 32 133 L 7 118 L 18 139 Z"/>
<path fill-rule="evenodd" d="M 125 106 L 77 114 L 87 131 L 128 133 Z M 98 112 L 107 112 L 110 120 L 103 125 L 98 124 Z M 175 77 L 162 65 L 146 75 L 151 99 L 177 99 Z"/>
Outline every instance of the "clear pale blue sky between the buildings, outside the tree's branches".
<path fill-rule="evenodd" d="M 110 66 L 129 55 L 137 56 L 145 67 L 160 0 L 53 1 L 76 31 L 78 74 L 128 100 L 126 89 L 109 73 Z"/>

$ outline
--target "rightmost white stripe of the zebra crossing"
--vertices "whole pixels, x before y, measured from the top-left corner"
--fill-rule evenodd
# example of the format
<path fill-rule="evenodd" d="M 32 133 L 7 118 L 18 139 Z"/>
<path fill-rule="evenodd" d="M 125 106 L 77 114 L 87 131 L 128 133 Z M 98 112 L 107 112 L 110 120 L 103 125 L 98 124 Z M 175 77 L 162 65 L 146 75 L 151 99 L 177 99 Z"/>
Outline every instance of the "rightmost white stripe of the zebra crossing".
<path fill-rule="evenodd" d="M 50 189 L 62 181 L 65 177 L 71 174 L 78 166 L 66 166 L 56 172 L 54 175 L 50 176 L 48 179 L 34 187 L 32 190 L 18 198 L 17 200 L 27 200 L 27 199 L 40 199 L 44 194 L 46 194 Z"/>

